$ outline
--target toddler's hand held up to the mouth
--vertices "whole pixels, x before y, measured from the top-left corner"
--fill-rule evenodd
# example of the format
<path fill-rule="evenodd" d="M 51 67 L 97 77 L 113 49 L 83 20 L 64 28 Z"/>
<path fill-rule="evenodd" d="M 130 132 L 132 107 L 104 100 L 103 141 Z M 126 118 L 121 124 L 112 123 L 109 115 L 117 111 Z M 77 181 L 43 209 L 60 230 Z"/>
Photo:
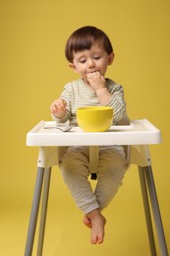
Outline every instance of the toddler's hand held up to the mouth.
<path fill-rule="evenodd" d="M 86 77 L 90 87 L 94 91 L 97 91 L 98 89 L 106 87 L 105 78 L 98 71 L 88 73 Z"/>

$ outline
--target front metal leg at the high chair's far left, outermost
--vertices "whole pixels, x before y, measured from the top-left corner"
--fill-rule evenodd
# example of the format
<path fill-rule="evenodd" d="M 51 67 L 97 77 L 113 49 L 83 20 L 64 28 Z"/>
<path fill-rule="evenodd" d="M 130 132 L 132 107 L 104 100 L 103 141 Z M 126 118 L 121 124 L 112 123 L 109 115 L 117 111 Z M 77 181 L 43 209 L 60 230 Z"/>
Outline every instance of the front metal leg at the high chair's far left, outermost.
<path fill-rule="evenodd" d="M 35 228 L 36 228 L 37 216 L 38 216 L 38 210 L 39 210 L 39 202 L 40 202 L 40 196 L 41 196 L 43 176 L 44 176 L 44 168 L 38 167 L 35 188 L 34 188 L 33 201 L 32 201 L 32 206 L 31 206 L 29 225 L 28 225 L 28 238 L 27 238 L 27 243 L 26 243 L 25 256 L 31 256 L 31 252 L 32 252 L 33 240 L 34 240 L 34 234 L 35 234 Z"/>

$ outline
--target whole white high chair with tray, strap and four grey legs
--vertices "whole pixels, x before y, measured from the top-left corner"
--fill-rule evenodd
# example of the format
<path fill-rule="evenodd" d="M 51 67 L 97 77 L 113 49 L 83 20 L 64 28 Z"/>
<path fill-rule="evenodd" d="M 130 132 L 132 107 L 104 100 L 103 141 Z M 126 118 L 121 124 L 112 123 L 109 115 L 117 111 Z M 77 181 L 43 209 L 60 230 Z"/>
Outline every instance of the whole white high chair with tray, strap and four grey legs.
<path fill-rule="evenodd" d="M 83 139 L 82 145 L 90 145 L 89 169 L 90 173 L 96 174 L 96 164 L 98 161 L 98 146 L 96 145 L 113 145 L 113 141 L 115 142 L 115 145 L 128 145 L 126 146 L 127 165 L 136 164 L 139 168 L 142 189 L 142 201 L 147 226 L 150 254 L 151 256 L 157 255 L 152 228 L 152 219 L 150 214 L 151 208 L 161 256 L 168 256 L 168 250 L 151 169 L 149 149 L 147 146 L 147 144 L 160 143 L 160 131 L 157 130 L 157 128 L 155 128 L 153 125 L 151 125 L 146 119 L 140 121 L 136 120 L 134 121 L 134 123 L 132 122 L 132 124 L 134 124 L 132 130 L 123 130 L 121 132 L 117 131 L 116 133 L 106 132 L 102 134 L 91 134 L 80 133 L 76 130 L 75 133 L 59 133 L 58 135 L 56 135 L 56 133 L 52 131 L 48 133 L 44 132 L 43 127 L 45 125 L 45 122 L 40 122 L 28 133 L 28 146 L 40 146 L 40 148 L 37 161 L 37 177 L 28 226 L 28 239 L 26 244 L 25 256 L 31 256 L 41 190 L 43 187 L 41 217 L 37 245 L 37 256 L 42 255 L 51 167 L 58 164 L 58 158 L 60 158 L 63 154 L 63 146 L 80 145 L 80 138 Z M 142 136 L 144 137 L 141 138 Z M 106 141 L 106 138 L 109 138 L 109 141 Z M 134 145 L 130 146 L 132 143 Z M 92 178 L 93 177 L 95 177 L 95 174 L 92 174 Z"/>

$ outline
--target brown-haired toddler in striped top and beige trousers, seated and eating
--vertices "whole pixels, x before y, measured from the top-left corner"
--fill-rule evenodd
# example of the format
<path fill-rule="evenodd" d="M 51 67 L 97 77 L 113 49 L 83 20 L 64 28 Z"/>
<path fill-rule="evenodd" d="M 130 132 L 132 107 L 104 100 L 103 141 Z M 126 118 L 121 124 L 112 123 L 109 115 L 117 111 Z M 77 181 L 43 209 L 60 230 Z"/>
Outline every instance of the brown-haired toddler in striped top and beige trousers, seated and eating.
<path fill-rule="evenodd" d="M 112 44 L 105 32 L 86 26 L 69 37 L 65 55 L 70 68 L 80 79 L 66 84 L 50 110 L 53 120 L 78 125 L 77 108 L 106 105 L 114 108 L 113 124 L 125 117 L 126 104 L 122 86 L 105 78 L 107 67 L 114 60 Z M 63 178 L 78 207 L 84 213 L 84 224 L 90 228 L 90 242 L 102 243 L 106 208 L 122 184 L 126 171 L 126 156 L 122 146 L 99 147 L 97 181 L 94 191 L 88 180 L 88 147 L 68 147 L 60 159 Z"/>

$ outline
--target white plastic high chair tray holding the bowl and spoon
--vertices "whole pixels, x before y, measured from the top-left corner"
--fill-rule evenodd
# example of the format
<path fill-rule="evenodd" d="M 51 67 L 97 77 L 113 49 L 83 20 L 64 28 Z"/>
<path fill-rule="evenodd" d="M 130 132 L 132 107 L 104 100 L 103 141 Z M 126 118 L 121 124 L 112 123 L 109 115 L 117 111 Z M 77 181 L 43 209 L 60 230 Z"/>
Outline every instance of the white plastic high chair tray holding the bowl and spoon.
<path fill-rule="evenodd" d="M 55 127 L 54 121 L 40 121 L 27 134 L 27 146 L 109 146 L 161 143 L 161 134 L 147 119 L 132 120 L 130 125 L 111 126 L 107 132 L 84 132 L 73 127 L 68 132 Z"/>

